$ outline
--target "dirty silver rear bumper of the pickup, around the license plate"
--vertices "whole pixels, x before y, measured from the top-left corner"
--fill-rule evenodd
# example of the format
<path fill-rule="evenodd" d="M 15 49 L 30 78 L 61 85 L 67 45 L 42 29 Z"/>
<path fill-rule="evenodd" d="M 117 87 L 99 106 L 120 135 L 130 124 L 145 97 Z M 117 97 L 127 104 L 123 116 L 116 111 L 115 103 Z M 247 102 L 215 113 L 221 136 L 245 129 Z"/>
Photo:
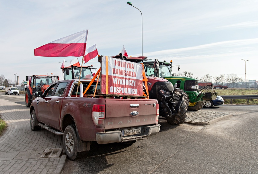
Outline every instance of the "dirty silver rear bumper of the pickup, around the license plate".
<path fill-rule="evenodd" d="M 108 144 L 108 143 L 120 143 L 125 141 L 133 141 L 133 140 L 142 140 L 145 137 L 156 135 L 160 131 L 160 124 L 153 126 L 143 127 L 144 133 L 141 135 L 132 135 L 123 137 L 122 132 L 120 130 L 114 130 L 109 132 L 97 132 L 96 133 L 96 141 L 99 144 Z"/>

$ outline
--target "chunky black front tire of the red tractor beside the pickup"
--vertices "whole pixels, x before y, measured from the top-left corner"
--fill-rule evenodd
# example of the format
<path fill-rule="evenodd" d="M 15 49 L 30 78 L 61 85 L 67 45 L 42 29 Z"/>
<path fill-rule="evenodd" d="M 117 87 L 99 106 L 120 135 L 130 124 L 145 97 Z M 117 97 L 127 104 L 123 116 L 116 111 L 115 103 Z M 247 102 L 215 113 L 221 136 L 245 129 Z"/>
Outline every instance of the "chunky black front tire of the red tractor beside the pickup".
<path fill-rule="evenodd" d="M 179 92 L 175 92 L 175 96 L 173 101 L 177 104 L 179 101 Z M 178 115 L 176 115 L 174 118 L 166 118 L 167 122 L 171 125 L 178 125 L 178 124 L 182 124 L 184 121 L 186 121 L 186 102 L 185 99 L 182 98 L 182 105 L 179 108 L 179 113 Z"/>

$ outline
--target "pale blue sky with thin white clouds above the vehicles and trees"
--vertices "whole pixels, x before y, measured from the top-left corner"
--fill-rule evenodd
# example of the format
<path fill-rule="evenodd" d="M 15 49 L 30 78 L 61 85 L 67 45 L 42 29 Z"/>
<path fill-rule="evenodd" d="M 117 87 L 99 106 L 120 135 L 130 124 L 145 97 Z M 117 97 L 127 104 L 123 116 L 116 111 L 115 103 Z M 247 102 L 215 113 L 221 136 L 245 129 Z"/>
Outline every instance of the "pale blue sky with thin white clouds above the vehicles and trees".
<path fill-rule="evenodd" d="M 236 74 L 258 81 L 258 0 L 0 0 L 0 74 L 20 82 L 57 74 L 75 57 L 34 56 L 34 49 L 88 29 L 87 47 L 100 55 L 173 60 L 201 78 Z M 143 43 L 142 43 L 143 22 Z M 82 57 L 78 57 L 81 60 Z M 244 59 L 244 60 L 241 60 Z M 97 57 L 85 66 L 100 67 Z M 177 68 L 174 72 L 178 73 Z"/>

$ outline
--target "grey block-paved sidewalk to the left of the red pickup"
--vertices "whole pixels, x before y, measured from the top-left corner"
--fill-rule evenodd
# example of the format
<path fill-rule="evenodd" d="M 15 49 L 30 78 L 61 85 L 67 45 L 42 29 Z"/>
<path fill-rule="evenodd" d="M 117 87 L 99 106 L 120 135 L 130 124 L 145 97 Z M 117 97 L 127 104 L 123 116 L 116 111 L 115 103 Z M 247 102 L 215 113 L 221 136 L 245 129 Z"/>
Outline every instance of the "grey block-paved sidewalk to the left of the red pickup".
<path fill-rule="evenodd" d="M 31 131 L 30 110 L 25 105 L 0 99 L 0 114 L 8 123 L 0 138 L 0 174 L 61 172 L 66 160 L 61 153 L 62 136 L 44 129 Z M 60 157 L 51 157 L 59 154 L 53 151 L 58 151 Z"/>

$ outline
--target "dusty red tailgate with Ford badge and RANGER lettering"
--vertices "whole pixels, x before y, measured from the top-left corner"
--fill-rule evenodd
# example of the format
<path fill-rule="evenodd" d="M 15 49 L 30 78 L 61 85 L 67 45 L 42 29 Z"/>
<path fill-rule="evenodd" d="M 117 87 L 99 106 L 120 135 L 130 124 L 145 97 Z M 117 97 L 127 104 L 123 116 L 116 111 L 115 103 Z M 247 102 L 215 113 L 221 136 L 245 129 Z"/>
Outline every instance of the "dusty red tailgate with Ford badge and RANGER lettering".
<path fill-rule="evenodd" d="M 157 124 L 157 103 L 156 99 L 106 99 L 105 130 Z"/>

